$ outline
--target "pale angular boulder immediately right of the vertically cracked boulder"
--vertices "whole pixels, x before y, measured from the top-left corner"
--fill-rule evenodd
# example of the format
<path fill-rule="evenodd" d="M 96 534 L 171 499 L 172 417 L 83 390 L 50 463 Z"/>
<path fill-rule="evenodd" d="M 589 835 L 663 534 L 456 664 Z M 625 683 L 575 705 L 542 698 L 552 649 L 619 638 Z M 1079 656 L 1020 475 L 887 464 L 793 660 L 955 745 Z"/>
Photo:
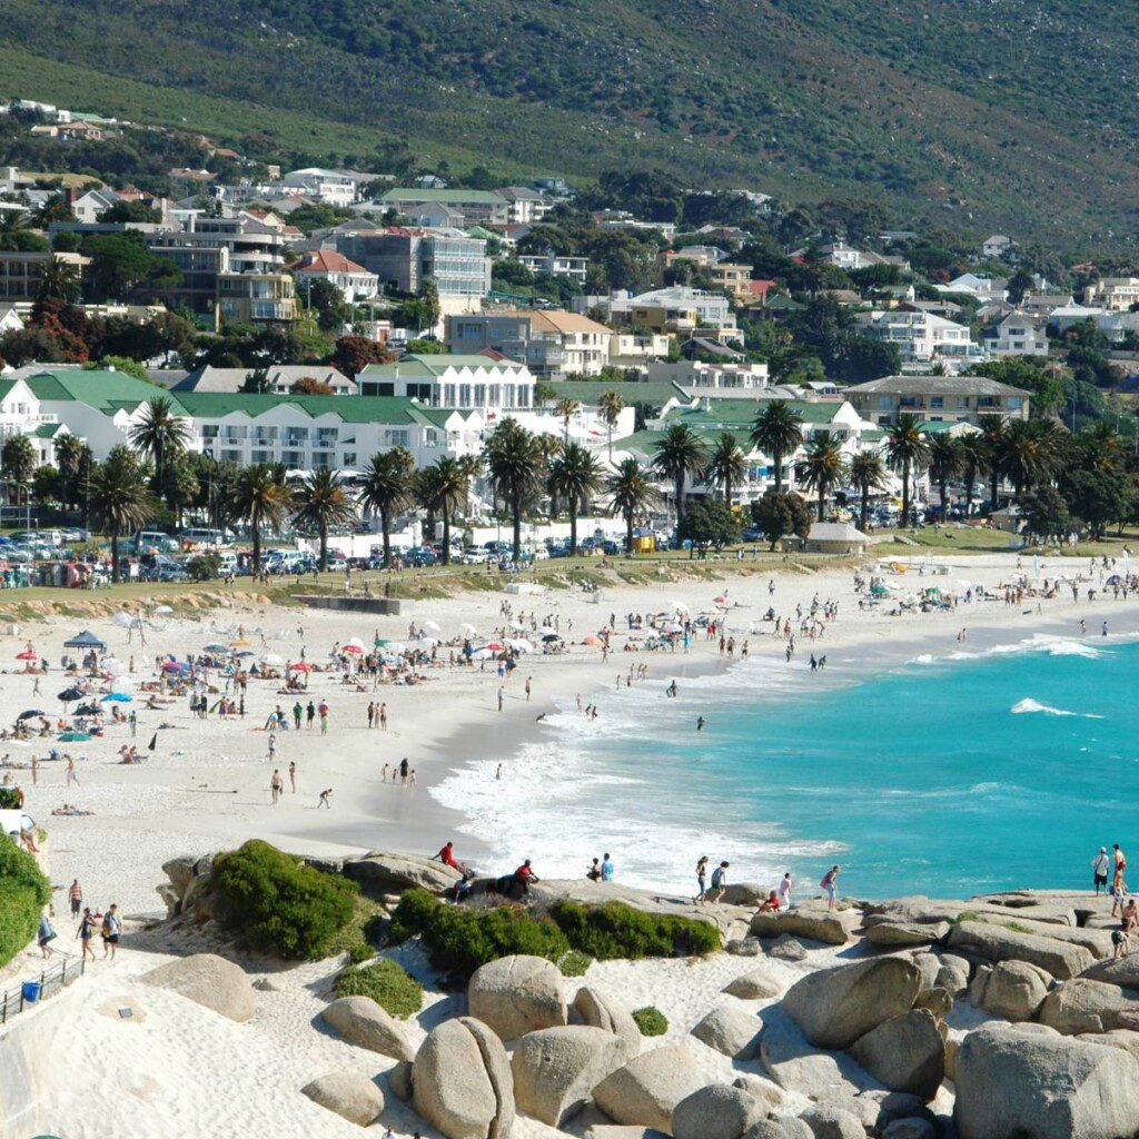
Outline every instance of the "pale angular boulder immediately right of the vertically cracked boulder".
<path fill-rule="evenodd" d="M 624 1043 L 601 1029 L 573 1024 L 527 1033 L 510 1062 L 515 1104 L 518 1111 L 560 1128 L 624 1062 Z"/>

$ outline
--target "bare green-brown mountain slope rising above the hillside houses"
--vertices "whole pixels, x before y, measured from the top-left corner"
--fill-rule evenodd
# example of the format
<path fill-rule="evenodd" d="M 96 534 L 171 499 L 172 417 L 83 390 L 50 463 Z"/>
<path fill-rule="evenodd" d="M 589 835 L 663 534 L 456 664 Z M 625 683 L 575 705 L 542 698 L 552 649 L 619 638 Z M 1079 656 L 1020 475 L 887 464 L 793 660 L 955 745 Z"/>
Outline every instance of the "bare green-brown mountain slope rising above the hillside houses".
<path fill-rule="evenodd" d="M 869 196 L 906 222 L 1068 245 L 1139 228 L 1139 14 L 1118 6 L 5 7 L 0 92 L 199 129 L 233 100 L 246 113 L 221 133 L 262 150 L 383 167 L 405 144 L 452 170 L 577 177 L 658 165 L 789 199 Z M 1072 66 L 1057 82 L 1062 62 Z"/>

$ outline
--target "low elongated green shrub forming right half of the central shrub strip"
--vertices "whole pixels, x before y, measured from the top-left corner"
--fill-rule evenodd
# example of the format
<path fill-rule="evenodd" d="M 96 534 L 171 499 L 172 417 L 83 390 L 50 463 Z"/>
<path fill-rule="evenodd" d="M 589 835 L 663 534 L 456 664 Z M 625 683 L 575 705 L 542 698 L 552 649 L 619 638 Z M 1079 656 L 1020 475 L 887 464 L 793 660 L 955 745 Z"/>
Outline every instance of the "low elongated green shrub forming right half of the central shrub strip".
<path fill-rule="evenodd" d="M 555 902 L 550 917 L 574 949 L 599 961 L 703 957 L 720 949 L 720 931 L 711 921 L 674 913 L 646 913 L 624 902 L 592 908 Z"/>

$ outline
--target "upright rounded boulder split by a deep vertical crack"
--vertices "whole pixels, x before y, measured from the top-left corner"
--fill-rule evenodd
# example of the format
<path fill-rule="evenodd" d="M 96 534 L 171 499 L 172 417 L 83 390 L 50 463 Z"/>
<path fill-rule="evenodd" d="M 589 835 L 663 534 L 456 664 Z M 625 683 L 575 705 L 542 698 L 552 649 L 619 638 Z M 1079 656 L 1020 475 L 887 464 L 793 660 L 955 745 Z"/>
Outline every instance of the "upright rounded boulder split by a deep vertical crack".
<path fill-rule="evenodd" d="M 416 1111 L 446 1139 L 509 1139 L 514 1081 L 506 1049 L 464 1016 L 432 1029 L 411 1073 Z"/>

